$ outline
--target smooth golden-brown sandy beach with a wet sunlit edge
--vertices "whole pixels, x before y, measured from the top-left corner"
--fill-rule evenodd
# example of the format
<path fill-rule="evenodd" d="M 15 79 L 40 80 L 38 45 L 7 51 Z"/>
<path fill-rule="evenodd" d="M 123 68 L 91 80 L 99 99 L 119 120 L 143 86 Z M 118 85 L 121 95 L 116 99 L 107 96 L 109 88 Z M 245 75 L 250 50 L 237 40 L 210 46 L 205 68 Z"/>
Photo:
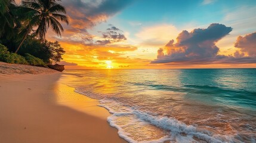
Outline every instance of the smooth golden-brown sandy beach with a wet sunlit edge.
<path fill-rule="evenodd" d="M 125 142 L 109 112 L 73 90 L 57 71 L 0 63 L 0 142 Z"/>

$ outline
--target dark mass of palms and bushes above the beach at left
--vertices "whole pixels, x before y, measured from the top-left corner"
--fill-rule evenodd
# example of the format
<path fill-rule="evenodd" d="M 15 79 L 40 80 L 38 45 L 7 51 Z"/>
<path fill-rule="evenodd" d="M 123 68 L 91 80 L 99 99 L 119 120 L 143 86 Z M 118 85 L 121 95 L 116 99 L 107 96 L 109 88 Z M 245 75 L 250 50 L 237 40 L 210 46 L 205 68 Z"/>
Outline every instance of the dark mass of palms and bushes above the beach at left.
<path fill-rule="evenodd" d="M 69 23 L 60 0 L 0 0 L 0 19 L 0 61 L 46 65 L 62 59 L 60 43 L 45 39 L 48 29 L 61 36 L 61 22 Z"/>

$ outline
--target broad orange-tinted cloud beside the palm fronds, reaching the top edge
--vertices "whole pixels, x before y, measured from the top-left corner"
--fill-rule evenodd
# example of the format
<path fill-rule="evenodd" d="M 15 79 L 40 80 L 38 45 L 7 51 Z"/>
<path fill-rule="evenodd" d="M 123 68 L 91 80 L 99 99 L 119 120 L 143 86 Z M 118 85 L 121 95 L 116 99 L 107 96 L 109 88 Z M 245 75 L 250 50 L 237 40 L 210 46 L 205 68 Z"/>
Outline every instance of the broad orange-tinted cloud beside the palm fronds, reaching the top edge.
<path fill-rule="evenodd" d="M 87 32 L 87 29 L 92 29 L 96 24 L 104 22 L 107 18 L 119 13 L 122 9 L 131 4 L 133 0 L 63 0 L 61 4 L 66 7 L 67 16 L 69 17 L 69 25 L 63 25 L 65 31 L 61 38 L 55 36 L 53 30 L 49 30 L 47 38 L 55 41 L 69 41 L 73 43 L 83 43 L 92 45 L 100 43 L 100 45 L 107 44 L 108 39 L 95 39 L 95 35 Z M 119 30 L 120 34 L 106 32 L 106 38 L 121 41 L 126 39 L 121 34 L 122 30 L 111 25 L 109 32 Z M 105 41 L 106 40 L 106 41 Z M 110 41 L 110 42 L 115 42 Z"/>

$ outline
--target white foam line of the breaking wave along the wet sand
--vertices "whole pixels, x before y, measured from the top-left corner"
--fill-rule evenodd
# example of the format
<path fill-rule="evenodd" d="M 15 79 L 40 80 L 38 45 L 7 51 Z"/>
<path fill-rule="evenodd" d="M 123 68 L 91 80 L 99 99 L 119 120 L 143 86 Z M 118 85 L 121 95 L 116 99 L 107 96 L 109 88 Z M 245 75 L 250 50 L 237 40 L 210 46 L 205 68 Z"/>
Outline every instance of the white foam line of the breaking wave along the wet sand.
<path fill-rule="evenodd" d="M 83 92 L 79 92 L 78 90 L 75 90 L 75 92 L 78 92 L 79 94 L 84 94 Z M 87 95 L 88 96 L 88 95 Z M 91 97 L 88 96 L 88 97 Z M 92 97 L 91 97 L 92 98 Z M 129 108 L 130 111 L 127 112 L 116 112 L 114 110 L 112 110 L 112 108 L 108 107 L 107 105 L 104 105 L 104 103 L 107 102 L 113 102 L 113 104 L 115 105 L 121 105 L 119 104 L 117 101 L 114 100 L 106 100 L 106 99 L 102 99 L 99 100 L 100 101 L 100 107 L 104 107 L 107 110 L 109 110 L 109 113 L 111 113 L 112 115 L 107 117 L 107 122 L 109 122 L 110 126 L 118 129 L 118 135 L 121 138 L 124 138 L 126 141 L 128 142 L 137 142 L 134 141 L 134 139 L 130 138 L 128 135 L 128 133 L 124 132 L 124 130 L 121 128 L 121 126 L 116 125 L 115 123 L 115 119 L 118 118 L 119 116 L 128 116 L 128 115 L 134 115 L 135 117 L 137 117 L 138 120 L 140 120 L 141 122 L 148 122 L 152 125 L 155 125 L 158 128 L 164 129 L 164 130 L 168 130 L 172 136 L 163 136 L 162 138 L 158 139 L 158 140 L 153 140 L 153 141 L 142 141 L 143 143 L 149 143 L 149 142 L 164 142 L 164 141 L 168 141 L 168 140 L 172 140 L 173 139 L 173 135 L 181 135 L 182 133 L 186 134 L 186 136 L 195 136 L 196 138 L 202 139 L 203 141 L 206 142 L 223 142 L 221 141 L 221 138 L 219 136 L 211 136 L 208 134 L 211 134 L 209 131 L 207 132 L 207 130 L 205 130 L 205 133 L 199 132 L 198 130 L 196 130 L 195 126 L 192 125 L 186 125 L 174 118 L 169 118 L 169 117 L 156 117 L 156 116 L 152 116 L 148 113 L 143 113 L 141 111 L 138 110 L 132 110 L 131 108 Z M 186 138 L 186 136 L 181 136 L 180 141 L 182 141 L 182 138 Z M 224 136 L 222 136 L 224 137 Z M 193 138 L 192 138 L 193 139 Z M 229 142 L 232 142 L 231 138 L 227 138 L 226 139 L 229 140 Z M 186 139 L 185 139 L 186 140 Z M 190 140 L 190 139 L 189 139 Z M 194 140 L 195 141 L 195 140 Z"/>

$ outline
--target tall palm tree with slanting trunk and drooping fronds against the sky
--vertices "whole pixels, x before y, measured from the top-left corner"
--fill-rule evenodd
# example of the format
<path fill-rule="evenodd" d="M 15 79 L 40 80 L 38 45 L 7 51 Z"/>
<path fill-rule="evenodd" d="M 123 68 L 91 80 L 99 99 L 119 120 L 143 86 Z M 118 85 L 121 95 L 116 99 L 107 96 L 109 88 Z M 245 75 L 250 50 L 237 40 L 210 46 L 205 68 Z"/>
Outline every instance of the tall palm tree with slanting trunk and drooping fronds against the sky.
<path fill-rule="evenodd" d="M 23 15 L 29 17 L 29 21 L 26 28 L 21 32 L 24 36 L 15 51 L 16 53 L 33 28 L 36 28 L 34 34 L 35 36 L 38 36 L 41 41 L 45 40 L 45 34 L 49 27 L 51 27 L 58 36 L 61 36 L 63 27 L 58 20 L 63 21 L 66 24 L 69 24 L 69 21 L 66 16 L 65 8 L 57 1 L 60 0 L 21 1 L 21 11 L 24 12 Z"/>

